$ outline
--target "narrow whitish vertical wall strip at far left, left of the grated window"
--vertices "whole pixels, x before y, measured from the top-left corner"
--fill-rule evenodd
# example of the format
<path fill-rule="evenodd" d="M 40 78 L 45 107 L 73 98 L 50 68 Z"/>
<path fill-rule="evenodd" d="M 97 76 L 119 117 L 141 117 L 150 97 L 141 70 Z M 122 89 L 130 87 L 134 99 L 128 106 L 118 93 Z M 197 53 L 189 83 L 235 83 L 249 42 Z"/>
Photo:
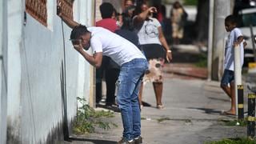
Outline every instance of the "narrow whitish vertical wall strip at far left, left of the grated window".
<path fill-rule="evenodd" d="M 21 50 L 22 50 L 22 0 L 10 0 L 8 9 L 7 48 L 7 136 L 8 143 L 21 140 Z"/>

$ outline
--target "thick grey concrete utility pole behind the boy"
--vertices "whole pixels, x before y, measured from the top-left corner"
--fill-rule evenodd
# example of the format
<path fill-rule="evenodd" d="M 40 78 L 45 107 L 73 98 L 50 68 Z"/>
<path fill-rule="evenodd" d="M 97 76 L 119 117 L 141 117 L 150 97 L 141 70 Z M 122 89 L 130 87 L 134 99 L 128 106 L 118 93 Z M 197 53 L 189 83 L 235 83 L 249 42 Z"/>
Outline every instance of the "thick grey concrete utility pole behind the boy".
<path fill-rule="evenodd" d="M 231 0 L 214 0 L 214 36 L 213 36 L 213 55 L 212 55 L 212 80 L 220 80 L 223 71 L 223 58 L 226 29 L 224 20 L 232 12 Z"/>

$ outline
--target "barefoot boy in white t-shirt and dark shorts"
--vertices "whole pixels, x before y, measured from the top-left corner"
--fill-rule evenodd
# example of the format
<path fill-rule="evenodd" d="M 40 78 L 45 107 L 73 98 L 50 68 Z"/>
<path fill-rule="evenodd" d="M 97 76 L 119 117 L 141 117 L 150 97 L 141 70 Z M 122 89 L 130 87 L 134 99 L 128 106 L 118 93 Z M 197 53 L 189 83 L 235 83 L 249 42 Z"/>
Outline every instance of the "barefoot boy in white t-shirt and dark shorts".
<path fill-rule="evenodd" d="M 226 31 L 230 32 L 226 41 L 225 58 L 224 58 L 224 74 L 222 76 L 222 90 L 231 98 L 231 108 L 224 114 L 235 115 L 235 94 L 234 94 L 234 48 L 238 46 L 241 50 L 241 66 L 243 65 L 244 49 L 243 36 L 241 30 L 237 28 L 237 22 L 234 15 L 225 18 Z M 229 86 L 230 85 L 230 86 Z"/>

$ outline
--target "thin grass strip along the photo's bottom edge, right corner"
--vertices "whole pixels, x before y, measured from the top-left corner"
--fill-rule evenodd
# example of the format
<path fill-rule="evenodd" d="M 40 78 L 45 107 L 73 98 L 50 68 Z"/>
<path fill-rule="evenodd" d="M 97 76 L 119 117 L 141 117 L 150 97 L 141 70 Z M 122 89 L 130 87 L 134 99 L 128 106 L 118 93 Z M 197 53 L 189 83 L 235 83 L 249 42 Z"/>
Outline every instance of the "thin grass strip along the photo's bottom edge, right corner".
<path fill-rule="evenodd" d="M 250 138 L 224 138 L 220 141 L 205 142 L 205 144 L 256 144 L 256 141 Z"/>

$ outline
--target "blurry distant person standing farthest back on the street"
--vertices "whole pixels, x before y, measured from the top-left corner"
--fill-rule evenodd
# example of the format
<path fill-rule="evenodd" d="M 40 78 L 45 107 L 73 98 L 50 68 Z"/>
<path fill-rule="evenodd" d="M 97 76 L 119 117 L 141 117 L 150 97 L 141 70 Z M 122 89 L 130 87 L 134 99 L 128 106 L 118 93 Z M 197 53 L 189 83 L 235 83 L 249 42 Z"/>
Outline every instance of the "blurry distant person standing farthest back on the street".
<path fill-rule="evenodd" d="M 173 8 L 170 10 L 172 38 L 175 45 L 178 45 L 183 38 L 184 26 L 186 23 L 187 14 L 182 4 L 178 1 L 174 2 Z"/>

